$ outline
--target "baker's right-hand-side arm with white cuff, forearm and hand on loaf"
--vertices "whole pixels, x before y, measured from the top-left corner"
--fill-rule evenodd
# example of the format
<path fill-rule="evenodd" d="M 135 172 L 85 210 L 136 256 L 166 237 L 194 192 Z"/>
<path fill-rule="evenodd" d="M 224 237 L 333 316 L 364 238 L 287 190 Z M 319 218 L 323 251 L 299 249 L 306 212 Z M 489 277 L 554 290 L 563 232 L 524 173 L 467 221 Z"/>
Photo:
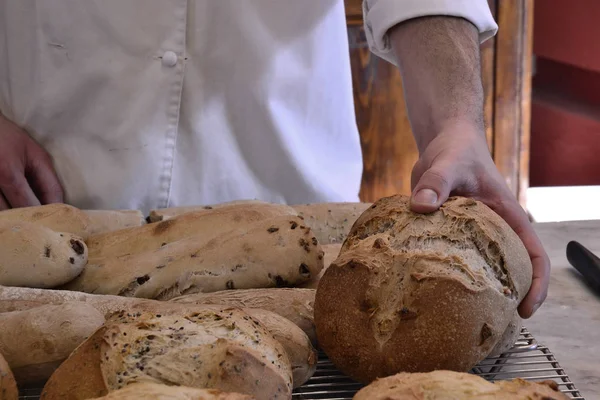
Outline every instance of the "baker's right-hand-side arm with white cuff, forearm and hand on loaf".
<path fill-rule="evenodd" d="M 546 298 L 550 262 L 487 147 L 479 44 L 497 30 L 487 1 L 365 0 L 363 8 L 371 49 L 402 74 L 420 154 L 412 173 L 413 210 L 431 212 L 455 194 L 501 215 L 533 263 L 533 283 L 519 307 L 530 317 Z"/>

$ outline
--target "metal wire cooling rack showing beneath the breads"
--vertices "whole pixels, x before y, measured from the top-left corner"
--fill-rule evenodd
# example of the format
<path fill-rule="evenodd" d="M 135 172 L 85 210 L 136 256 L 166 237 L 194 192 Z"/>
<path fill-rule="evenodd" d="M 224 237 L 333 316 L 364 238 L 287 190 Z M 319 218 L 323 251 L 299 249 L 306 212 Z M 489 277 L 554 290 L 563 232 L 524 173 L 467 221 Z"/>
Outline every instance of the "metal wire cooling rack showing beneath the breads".
<path fill-rule="evenodd" d="M 508 352 L 490 357 L 479 363 L 471 373 L 489 381 L 521 378 L 530 381 L 555 381 L 560 390 L 573 400 L 585 400 L 554 354 L 541 344 L 526 328 L 521 330 L 519 340 Z M 319 354 L 317 371 L 303 386 L 294 391 L 294 400 L 351 400 L 363 385 L 344 376 L 324 353 Z M 41 388 L 21 391 L 19 399 L 37 400 Z"/>

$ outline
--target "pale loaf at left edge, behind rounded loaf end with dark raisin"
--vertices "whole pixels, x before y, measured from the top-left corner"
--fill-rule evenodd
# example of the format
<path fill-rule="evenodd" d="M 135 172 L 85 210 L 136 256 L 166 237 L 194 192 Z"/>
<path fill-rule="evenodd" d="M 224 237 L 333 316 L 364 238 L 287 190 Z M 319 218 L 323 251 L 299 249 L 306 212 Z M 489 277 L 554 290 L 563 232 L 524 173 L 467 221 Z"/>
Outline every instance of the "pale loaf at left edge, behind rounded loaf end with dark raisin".
<path fill-rule="evenodd" d="M 33 222 L 55 232 L 68 232 L 86 239 L 90 218 L 80 209 L 67 204 L 47 204 L 0 211 L 0 222 Z"/>

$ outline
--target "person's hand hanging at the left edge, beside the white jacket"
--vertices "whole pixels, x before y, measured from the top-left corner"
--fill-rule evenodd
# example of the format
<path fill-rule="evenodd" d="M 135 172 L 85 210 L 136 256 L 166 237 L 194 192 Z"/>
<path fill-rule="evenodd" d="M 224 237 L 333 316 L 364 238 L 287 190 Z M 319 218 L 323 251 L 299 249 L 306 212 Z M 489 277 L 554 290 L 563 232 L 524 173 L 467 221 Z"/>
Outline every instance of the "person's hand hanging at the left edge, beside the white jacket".
<path fill-rule="evenodd" d="M 62 201 L 50 155 L 0 115 L 0 210 Z"/>

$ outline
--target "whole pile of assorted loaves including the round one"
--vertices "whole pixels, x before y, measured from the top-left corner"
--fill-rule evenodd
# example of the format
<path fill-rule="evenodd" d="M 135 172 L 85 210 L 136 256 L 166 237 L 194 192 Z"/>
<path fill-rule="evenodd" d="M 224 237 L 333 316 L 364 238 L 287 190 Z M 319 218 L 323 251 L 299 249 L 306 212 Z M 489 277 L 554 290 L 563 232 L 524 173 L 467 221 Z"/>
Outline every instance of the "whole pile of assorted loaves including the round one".
<path fill-rule="evenodd" d="M 460 386 L 514 344 L 531 279 L 518 238 L 469 199 L 429 216 L 402 196 L 148 218 L 53 204 L 0 212 L 0 251 L 0 400 L 41 383 L 46 400 L 290 399 L 317 347 L 374 381 L 357 399 L 434 370 Z"/>

